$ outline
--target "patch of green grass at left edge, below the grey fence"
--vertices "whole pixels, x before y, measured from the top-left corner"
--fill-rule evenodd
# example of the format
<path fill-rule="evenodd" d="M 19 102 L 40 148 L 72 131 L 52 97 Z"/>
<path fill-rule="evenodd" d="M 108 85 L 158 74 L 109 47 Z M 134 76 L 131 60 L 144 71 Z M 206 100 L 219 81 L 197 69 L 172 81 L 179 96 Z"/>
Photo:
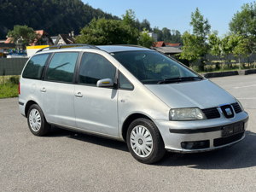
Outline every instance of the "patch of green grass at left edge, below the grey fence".
<path fill-rule="evenodd" d="M 19 76 L 0 77 L 0 99 L 19 96 Z"/>

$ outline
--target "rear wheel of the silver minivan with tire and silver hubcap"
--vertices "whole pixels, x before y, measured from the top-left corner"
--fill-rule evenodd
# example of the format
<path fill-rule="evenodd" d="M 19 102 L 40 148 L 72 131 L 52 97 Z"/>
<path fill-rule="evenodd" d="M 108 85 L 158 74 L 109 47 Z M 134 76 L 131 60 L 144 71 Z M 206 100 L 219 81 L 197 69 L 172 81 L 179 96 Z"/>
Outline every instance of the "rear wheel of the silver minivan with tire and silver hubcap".
<path fill-rule="evenodd" d="M 44 118 L 42 109 L 37 104 L 33 104 L 28 109 L 27 124 L 32 134 L 38 137 L 49 133 L 51 128 L 51 125 Z"/>

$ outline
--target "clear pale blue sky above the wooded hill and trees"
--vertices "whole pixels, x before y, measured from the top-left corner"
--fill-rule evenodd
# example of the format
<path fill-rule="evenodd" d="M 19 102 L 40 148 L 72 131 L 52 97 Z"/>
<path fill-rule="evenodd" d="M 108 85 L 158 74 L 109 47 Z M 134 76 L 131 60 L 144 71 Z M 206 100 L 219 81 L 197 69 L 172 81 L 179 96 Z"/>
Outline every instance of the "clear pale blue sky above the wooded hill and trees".
<path fill-rule="evenodd" d="M 94 9 L 102 9 L 108 14 L 121 18 L 125 10 L 132 9 L 140 22 L 147 19 L 151 28 L 167 27 L 183 33 L 190 30 L 191 13 L 198 9 L 204 18 L 209 20 L 212 30 L 218 30 L 222 36 L 229 32 L 229 23 L 237 11 L 241 11 L 244 3 L 253 0 L 82 0 Z"/>

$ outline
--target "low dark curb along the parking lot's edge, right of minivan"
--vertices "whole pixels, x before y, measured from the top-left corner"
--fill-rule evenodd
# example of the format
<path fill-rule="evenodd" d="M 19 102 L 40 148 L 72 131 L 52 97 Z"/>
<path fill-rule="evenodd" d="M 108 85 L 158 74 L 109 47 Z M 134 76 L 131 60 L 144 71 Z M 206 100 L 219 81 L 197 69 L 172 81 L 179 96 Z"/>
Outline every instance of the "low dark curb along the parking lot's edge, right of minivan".
<path fill-rule="evenodd" d="M 205 78 L 218 78 L 225 76 L 233 76 L 233 75 L 247 75 L 256 73 L 256 69 L 246 69 L 246 70 L 238 70 L 238 71 L 229 71 L 229 72 L 215 72 L 215 73 L 201 73 Z"/>

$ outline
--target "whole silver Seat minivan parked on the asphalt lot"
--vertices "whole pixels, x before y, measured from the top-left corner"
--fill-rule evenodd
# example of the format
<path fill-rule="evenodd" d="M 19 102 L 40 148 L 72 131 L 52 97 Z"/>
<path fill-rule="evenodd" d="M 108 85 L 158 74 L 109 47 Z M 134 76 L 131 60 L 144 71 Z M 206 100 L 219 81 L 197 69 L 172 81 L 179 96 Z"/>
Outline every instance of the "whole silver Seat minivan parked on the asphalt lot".
<path fill-rule="evenodd" d="M 167 151 L 224 148 L 245 137 L 248 114 L 228 92 L 152 49 L 129 45 L 39 50 L 19 85 L 30 131 L 51 125 L 127 143 L 143 163 Z"/>

